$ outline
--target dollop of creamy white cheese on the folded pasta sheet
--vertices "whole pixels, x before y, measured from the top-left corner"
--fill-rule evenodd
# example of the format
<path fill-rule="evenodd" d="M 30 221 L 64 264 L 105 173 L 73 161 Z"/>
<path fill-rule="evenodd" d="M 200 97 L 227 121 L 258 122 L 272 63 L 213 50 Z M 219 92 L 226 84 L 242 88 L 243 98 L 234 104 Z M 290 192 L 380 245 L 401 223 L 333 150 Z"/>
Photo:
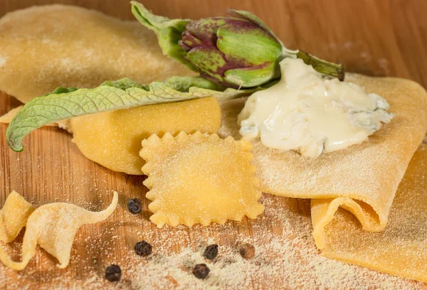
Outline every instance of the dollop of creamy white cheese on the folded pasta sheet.
<path fill-rule="evenodd" d="M 251 95 L 238 115 L 243 138 L 315 158 L 366 141 L 393 117 L 381 96 L 325 80 L 300 59 L 285 58 L 280 69 L 280 82 Z"/>

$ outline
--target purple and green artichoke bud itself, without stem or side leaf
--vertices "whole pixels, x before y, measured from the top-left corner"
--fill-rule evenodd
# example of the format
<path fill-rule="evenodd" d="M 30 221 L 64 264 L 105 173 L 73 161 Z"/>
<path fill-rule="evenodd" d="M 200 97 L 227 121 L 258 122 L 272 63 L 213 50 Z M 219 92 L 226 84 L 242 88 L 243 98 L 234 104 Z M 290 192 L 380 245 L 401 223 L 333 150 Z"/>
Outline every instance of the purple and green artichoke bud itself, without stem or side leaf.
<path fill-rule="evenodd" d="M 228 87 L 256 87 L 280 77 L 280 41 L 244 18 L 191 21 L 179 44 L 202 76 Z"/>

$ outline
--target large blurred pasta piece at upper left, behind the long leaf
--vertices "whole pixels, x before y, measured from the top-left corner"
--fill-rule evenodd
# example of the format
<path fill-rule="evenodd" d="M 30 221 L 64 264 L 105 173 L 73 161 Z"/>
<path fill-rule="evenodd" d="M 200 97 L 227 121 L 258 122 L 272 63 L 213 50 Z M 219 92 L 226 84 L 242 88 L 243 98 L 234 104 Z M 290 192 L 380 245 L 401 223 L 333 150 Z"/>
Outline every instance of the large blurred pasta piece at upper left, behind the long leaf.
<path fill-rule="evenodd" d="M 130 77 L 142 84 L 191 75 L 169 60 L 137 21 L 78 6 L 33 6 L 0 19 L 0 90 L 28 102 L 56 87 L 96 87 Z"/>

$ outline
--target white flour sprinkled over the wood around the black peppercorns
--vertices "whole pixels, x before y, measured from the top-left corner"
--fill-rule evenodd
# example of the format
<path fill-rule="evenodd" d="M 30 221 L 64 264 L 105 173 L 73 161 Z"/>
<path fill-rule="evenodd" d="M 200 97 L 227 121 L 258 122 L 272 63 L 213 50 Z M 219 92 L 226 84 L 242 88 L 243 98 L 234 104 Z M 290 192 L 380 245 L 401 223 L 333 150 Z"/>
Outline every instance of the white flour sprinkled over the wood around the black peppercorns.
<path fill-rule="evenodd" d="M 47 269 L 44 272 L 38 267 L 28 267 L 16 274 L 1 266 L 0 279 L 6 279 L 6 284 L 10 280 L 12 288 L 14 283 L 21 285 L 38 279 L 40 289 L 52 289 L 53 285 L 55 289 L 419 289 L 423 286 L 419 282 L 320 256 L 312 240 L 307 200 L 265 195 L 262 202 L 266 206 L 265 214 L 250 222 L 253 238 L 243 235 L 244 226 L 237 222 L 191 229 L 184 226 L 157 229 L 151 227 L 148 220 L 124 210 L 119 220 L 141 223 L 137 240 L 149 240 L 153 245 L 153 254 L 148 258 L 138 257 L 130 247 L 127 254 L 117 255 L 115 248 L 121 247 L 120 240 L 124 237 L 114 236 L 112 232 L 125 226 L 123 221 L 107 222 L 100 235 L 88 234 L 92 232 L 90 225 L 83 227 L 84 232 L 78 232 L 74 247 L 80 252 L 84 247 L 88 254 L 85 257 L 73 254 L 68 269 L 55 269 L 50 259 L 43 259 L 38 263 Z M 246 225 L 248 221 L 243 223 Z M 235 237 L 226 234 L 236 232 L 236 228 L 240 234 Z M 223 242 L 226 239 L 227 246 Z M 255 257 L 243 259 L 238 253 L 237 242 L 253 245 Z M 218 257 L 209 261 L 202 254 L 212 243 L 219 245 Z M 177 245 L 182 247 L 179 249 Z M 12 252 L 18 249 L 14 245 Z M 104 279 L 103 271 L 109 263 L 94 259 L 100 251 L 105 261 L 120 264 L 122 279 L 118 284 Z M 45 255 L 39 251 L 36 257 Z M 191 274 L 194 265 L 200 263 L 211 269 L 206 280 L 196 279 Z M 73 274 L 75 269 L 71 270 L 75 264 L 79 264 L 79 277 Z M 16 276 L 18 279 L 14 280 Z"/>

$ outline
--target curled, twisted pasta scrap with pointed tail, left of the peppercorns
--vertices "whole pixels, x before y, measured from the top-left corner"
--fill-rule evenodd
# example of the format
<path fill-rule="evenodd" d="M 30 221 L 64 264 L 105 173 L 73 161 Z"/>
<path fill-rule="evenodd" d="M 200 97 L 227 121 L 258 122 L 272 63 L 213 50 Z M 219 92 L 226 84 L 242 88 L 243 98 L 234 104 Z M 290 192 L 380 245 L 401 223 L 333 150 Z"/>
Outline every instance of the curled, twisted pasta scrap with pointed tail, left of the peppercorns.
<path fill-rule="evenodd" d="M 108 218 L 117 206 L 118 195 L 115 192 L 110 206 L 98 213 L 70 203 L 49 203 L 31 213 L 26 222 L 23 236 L 22 261 L 12 261 L 0 247 L 1 262 L 7 267 L 22 270 L 36 254 L 39 245 L 58 259 L 58 268 L 63 269 L 70 262 L 71 247 L 78 229 L 85 224 L 93 224 Z M 15 212 L 14 212 L 15 213 Z"/>

